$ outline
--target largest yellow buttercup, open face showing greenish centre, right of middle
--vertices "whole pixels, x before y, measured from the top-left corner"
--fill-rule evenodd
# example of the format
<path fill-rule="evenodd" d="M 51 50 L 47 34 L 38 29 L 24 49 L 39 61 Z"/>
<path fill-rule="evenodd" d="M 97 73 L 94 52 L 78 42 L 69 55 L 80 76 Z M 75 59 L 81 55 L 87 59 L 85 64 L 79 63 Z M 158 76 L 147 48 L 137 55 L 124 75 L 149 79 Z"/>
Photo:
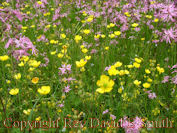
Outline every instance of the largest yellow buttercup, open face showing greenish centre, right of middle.
<path fill-rule="evenodd" d="M 113 89 L 114 81 L 106 75 L 101 75 L 100 80 L 97 81 L 97 86 L 100 87 L 96 90 L 99 93 L 110 92 Z"/>

